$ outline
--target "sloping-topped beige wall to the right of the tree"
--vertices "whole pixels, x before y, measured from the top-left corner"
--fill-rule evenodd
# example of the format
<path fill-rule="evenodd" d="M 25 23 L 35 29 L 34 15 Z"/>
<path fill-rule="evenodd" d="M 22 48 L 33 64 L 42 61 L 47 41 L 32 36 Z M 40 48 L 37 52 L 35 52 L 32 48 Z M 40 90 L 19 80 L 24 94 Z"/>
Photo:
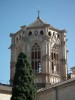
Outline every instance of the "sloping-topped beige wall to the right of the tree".
<path fill-rule="evenodd" d="M 38 90 L 36 100 L 75 100 L 75 78 Z"/>

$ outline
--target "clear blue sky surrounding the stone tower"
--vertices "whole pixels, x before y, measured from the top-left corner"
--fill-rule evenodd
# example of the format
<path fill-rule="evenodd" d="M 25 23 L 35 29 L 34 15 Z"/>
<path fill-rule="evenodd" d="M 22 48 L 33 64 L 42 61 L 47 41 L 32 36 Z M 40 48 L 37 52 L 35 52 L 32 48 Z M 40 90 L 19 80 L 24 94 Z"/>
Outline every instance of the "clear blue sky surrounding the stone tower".
<path fill-rule="evenodd" d="M 40 17 L 67 30 L 68 69 L 75 66 L 75 0 L 0 0 L 0 82 L 10 80 L 10 33 Z"/>

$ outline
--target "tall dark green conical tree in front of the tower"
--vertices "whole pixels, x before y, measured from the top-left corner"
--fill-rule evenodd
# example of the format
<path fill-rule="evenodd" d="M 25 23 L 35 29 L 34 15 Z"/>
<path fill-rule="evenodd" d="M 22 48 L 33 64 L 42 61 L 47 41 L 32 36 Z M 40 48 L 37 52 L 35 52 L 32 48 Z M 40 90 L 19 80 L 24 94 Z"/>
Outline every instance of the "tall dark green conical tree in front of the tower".
<path fill-rule="evenodd" d="M 16 63 L 11 100 L 35 99 L 34 75 L 27 56 L 20 53 Z"/>

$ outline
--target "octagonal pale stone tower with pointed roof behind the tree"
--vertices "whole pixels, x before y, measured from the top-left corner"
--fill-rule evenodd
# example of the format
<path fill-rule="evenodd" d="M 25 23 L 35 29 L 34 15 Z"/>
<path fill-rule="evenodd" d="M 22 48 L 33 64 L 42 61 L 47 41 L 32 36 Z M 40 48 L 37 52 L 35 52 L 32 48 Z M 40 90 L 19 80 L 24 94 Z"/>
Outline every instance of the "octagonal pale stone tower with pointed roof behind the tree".
<path fill-rule="evenodd" d="M 39 16 L 28 26 L 11 33 L 10 81 L 15 73 L 17 56 L 27 54 L 38 88 L 67 79 L 66 31 L 45 23 Z"/>

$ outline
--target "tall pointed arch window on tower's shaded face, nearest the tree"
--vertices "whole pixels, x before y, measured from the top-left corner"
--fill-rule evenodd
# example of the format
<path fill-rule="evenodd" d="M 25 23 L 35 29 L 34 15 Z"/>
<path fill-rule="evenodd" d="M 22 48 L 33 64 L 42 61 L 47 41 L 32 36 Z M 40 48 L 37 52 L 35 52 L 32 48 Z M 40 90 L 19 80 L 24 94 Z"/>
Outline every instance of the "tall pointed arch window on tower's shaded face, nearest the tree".
<path fill-rule="evenodd" d="M 31 51 L 31 64 L 32 64 L 32 69 L 35 73 L 39 73 L 40 63 L 41 63 L 40 46 L 37 43 L 35 43 Z"/>

